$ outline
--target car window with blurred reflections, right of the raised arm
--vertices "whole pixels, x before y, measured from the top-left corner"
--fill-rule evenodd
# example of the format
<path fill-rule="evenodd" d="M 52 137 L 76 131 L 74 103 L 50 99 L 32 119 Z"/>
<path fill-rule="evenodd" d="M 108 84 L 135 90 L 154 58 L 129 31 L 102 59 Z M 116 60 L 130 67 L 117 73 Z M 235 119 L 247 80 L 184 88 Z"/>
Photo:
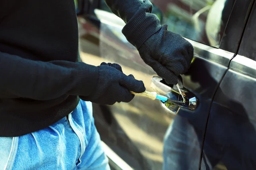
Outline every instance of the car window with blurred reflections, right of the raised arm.
<path fill-rule="evenodd" d="M 219 47 L 235 0 L 151 0 L 169 31 Z"/>

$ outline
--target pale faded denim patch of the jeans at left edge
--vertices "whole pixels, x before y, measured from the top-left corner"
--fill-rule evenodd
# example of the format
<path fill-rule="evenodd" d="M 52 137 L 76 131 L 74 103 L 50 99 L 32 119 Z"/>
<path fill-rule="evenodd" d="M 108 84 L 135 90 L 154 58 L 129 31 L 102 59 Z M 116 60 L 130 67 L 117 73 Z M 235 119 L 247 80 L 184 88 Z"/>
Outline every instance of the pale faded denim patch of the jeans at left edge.
<path fill-rule="evenodd" d="M 0 137 L 0 170 L 12 170 L 19 137 Z"/>

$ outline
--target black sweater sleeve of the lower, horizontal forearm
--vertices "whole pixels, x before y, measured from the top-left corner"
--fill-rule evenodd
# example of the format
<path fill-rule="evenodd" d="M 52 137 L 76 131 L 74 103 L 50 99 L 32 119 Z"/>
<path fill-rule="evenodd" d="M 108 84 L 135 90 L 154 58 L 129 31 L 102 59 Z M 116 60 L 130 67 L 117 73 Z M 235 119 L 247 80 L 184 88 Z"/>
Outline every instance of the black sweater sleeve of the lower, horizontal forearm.
<path fill-rule="evenodd" d="M 83 62 L 41 62 L 0 52 L 0 98 L 88 96 L 96 87 L 98 76 L 96 66 Z"/>

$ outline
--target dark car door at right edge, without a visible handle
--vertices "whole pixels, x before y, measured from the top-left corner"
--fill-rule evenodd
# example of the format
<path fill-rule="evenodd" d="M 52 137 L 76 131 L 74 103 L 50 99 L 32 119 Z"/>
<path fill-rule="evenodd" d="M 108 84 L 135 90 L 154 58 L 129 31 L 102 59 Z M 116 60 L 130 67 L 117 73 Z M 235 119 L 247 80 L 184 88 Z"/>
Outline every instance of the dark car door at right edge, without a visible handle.
<path fill-rule="evenodd" d="M 247 11 L 250 17 L 237 55 L 212 102 L 201 169 L 256 169 L 255 2 Z"/>

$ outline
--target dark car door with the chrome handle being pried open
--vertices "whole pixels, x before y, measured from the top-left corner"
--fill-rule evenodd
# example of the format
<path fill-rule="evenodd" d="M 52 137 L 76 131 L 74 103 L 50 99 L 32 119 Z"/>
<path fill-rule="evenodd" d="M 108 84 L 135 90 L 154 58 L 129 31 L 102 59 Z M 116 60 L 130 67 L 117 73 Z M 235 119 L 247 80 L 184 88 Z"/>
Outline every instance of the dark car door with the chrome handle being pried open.
<path fill-rule="evenodd" d="M 90 12 L 79 19 L 84 62 L 116 62 L 125 74 L 143 80 L 148 91 L 176 101 L 167 105 L 135 96 L 129 103 L 94 104 L 102 141 L 134 169 L 200 169 L 212 99 L 237 51 L 235 40 L 241 38 L 250 6 L 249 1 L 240 4 L 239 11 L 238 1 L 152 0 L 161 23 L 167 23 L 170 31 L 181 34 L 195 48 L 189 71 L 180 77 L 186 105 L 178 103 L 181 96 L 175 85 L 166 85 L 145 65 L 122 35 L 124 23 L 111 14 L 103 0 L 93 1 L 96 9 L 91 12 L 89 6 Z"/>

